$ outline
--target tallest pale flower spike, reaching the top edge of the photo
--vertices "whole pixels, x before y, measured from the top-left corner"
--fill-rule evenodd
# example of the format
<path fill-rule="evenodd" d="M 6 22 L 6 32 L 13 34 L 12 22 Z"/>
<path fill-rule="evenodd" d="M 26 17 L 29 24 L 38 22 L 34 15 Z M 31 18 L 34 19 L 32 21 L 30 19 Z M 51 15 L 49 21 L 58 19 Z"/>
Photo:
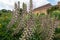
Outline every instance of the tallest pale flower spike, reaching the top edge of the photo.
<path fill-rule="evenodd" d="M 21 35 L 22 37 L 19 38 L 20 40 L 29 40 L 29 38 L 32 36 L 34 32 L 34 19 L 32 16 L 32 0 L 30 0 L 30 13 L 29 16 L 30 18 L 26 22 L 26 27 L 24 28 L 23 34 Z"/>

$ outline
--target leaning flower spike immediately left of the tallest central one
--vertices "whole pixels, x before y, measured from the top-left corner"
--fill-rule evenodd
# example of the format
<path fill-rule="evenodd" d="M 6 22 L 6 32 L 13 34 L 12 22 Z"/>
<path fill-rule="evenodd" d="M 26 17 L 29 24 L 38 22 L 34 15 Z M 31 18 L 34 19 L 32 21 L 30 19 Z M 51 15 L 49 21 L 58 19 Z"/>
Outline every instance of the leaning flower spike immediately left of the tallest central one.
<path fill-rule="evenodd" d="M 19 4 L 19 2 L 18 2 L 18 4 Z M 18 5 L 18 9 L 19 9 L 19 5 Z M 26 11 L 27 11 L 27 6 L 26 6 L 26 4 L 23 4 L 23 10 L 22 10 L 22 12 L 21 12 L 21 14 L 17 20 L 18 25 L 16 26 L 16 29 L 14 30 L 12 35 L 16 35 L 17 33 L 19 33 L 19 31 L 21 29 L 24 29 L 24 27 L 25 27 L 25 16 L 24 16 L 24 14 L 26 14 Z"/>

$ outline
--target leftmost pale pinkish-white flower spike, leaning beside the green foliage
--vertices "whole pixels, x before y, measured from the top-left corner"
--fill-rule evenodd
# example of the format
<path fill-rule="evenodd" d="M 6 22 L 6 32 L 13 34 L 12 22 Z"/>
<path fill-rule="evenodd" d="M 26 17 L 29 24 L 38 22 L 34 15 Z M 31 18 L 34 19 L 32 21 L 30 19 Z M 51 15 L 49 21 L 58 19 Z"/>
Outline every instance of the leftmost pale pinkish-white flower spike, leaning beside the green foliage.
<path fill-rule="evenodd" d="M 11 19 L 11 21 L 9 22 L 9 24 L 7 25 L 7 29 L 9 30 L 12 26 L 13 26 L 13 24 L 17 21 L 17 19 L 18 19 L 18 16 L 19 16 L 19 14 L 18 14 L 18 7 L 17 7 L 18 5 L 15 3 L 15 8 L 14 8 L 14 10 L 13 10 L 13 17 L 12 17 L 12 19 Z"/>

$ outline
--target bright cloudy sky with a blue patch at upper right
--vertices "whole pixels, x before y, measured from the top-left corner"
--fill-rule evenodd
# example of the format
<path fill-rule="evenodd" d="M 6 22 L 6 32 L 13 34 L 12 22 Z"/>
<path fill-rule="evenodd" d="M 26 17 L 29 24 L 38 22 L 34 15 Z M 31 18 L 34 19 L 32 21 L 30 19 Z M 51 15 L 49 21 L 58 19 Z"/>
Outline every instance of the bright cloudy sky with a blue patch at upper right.
<path fill-rule="evenodd" d="M 26 3 L 27 7 L 29 7 L 29 0 L 0 0 L 0 10 L 1 9 L 8 9 L 13 10 L 14 9 L 14 3 L 20 1 L 20 6 L 22 8 L 22 3 Z M 57 2 L 60 0 L 33 0 L 33 7 L 37 8 L 40 6 L 43 6 L 45 4 L 51 3 L 52 5 L 57 4 Z"/>

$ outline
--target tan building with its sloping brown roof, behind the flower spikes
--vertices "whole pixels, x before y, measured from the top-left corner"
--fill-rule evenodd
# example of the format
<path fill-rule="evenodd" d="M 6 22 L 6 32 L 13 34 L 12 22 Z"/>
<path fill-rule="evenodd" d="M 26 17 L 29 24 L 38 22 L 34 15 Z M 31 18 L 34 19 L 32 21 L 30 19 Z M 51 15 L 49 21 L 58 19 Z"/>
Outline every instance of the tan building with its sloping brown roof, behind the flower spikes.
<path fill-rule="evenodd" d="M 41 13 L 44 13 L 47 15 L 47 10 L 51 8 L 51 5 L 50 4 L 47 4 L 45 6 L 42 6 L 42 7 L 39 7 L 39 8 L 36 8 L 35 10 L 33 10 L 33 13 L 34 14 L 41 14 Z"/>

